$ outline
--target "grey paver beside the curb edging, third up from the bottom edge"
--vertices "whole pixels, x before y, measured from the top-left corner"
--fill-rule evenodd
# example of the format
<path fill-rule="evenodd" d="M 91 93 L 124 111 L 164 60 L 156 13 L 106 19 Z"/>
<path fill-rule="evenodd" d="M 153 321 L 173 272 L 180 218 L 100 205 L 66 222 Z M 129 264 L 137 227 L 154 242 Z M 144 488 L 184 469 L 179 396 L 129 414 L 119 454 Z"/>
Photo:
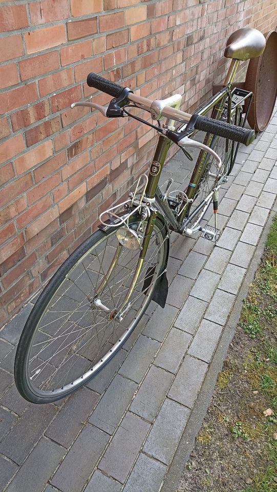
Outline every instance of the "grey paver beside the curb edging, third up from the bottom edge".
<path fill-rule="evenodd" d="M 192 408 L 207 370 L 207 363 L 186 355 L 168 396 Z"/>

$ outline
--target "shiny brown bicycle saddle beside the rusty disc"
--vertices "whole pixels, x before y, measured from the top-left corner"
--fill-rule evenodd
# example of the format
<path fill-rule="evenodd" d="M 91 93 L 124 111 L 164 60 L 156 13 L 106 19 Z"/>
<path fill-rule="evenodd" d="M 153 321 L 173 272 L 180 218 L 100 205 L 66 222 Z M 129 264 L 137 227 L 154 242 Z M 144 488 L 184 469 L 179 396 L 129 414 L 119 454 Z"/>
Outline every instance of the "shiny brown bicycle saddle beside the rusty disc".
<path fill-rule="evenodd" d="M 224 56 L 237 60 L 255 58 L 263 53 L 265 43 L 265 37 L 260 31 L 244 27 L 228 37 Z"/>

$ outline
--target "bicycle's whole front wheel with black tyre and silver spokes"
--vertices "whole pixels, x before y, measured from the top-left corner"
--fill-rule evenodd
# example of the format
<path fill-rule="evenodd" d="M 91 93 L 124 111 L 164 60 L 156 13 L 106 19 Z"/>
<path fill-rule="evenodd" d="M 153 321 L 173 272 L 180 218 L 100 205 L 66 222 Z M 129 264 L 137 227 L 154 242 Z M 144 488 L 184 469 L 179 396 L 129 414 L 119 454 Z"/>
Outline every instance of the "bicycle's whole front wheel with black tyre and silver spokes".
<path fill-rule="evenodd" d="M 167 230 L 157 218 L 121 320 L 111 313 L 120 308 L 129 289 L 140 250 L 120 247 L 116 230 L 99 230 L 84 241 L 35 303 L 14 366 L 17 389 L 26 400 L 50 403 L 86 384 L 111 360 L 147 309 L 165 268 Z"/>

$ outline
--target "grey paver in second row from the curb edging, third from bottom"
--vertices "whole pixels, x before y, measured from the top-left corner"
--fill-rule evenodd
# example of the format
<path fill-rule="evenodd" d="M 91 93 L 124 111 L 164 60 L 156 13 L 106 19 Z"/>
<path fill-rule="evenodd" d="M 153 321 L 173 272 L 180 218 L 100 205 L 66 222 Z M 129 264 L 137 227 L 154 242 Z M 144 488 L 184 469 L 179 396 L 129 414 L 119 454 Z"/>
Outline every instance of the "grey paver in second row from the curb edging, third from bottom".
<path fill-rule="evenodd" d="M 159 411 L 172 380 L 172 374 L 152 365 L 131 403 L 131 412 L 152 422 Z"/>

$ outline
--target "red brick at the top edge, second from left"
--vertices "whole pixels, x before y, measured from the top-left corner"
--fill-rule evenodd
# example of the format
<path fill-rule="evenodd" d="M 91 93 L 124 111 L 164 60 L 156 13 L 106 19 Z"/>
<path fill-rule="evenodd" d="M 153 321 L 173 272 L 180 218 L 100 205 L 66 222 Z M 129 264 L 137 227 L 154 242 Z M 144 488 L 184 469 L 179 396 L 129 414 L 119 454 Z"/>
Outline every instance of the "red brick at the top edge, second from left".
<path fill-rule="evenodd" d="M 35 26 L 70 17 L 68 0 L 59 0 L 58 2 L 56 0 L 40 0 L 29 3 L 29 11 L 31 23 Z"/>

